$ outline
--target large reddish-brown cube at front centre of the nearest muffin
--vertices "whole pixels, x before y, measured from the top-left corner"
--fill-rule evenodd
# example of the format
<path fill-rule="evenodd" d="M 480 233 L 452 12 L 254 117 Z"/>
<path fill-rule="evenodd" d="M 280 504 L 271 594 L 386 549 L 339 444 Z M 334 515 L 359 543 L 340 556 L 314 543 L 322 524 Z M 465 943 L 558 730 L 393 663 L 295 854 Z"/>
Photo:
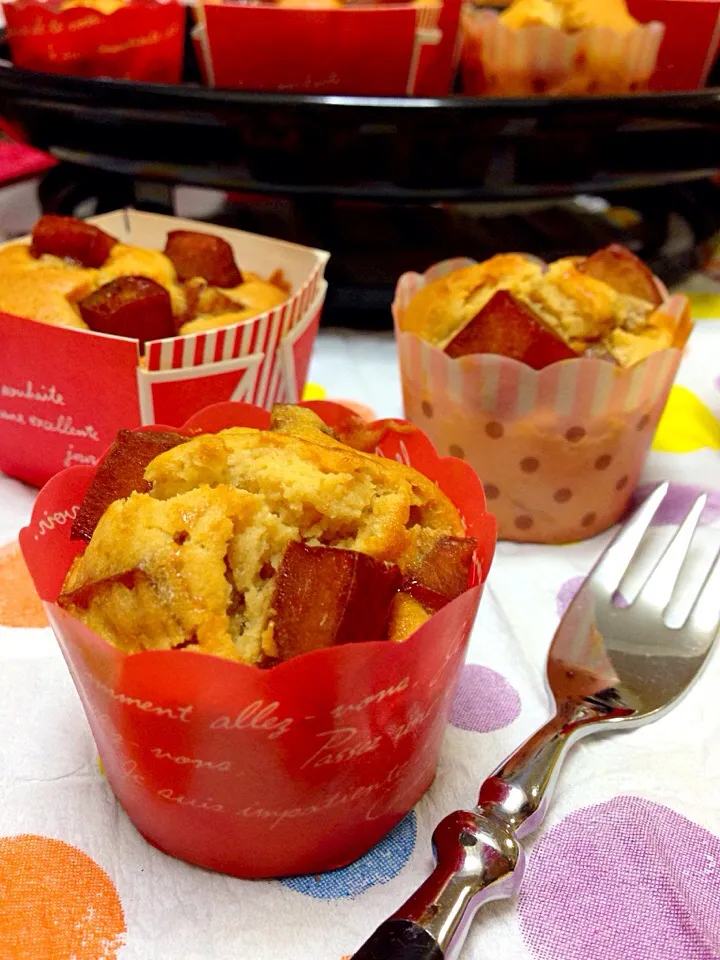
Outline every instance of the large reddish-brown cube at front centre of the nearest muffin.
<path fill-rule="evenodd" d="M 273 599 L 278 656 L 381 640 L 401 580 L 394 564 L 364 553 L 291 543 Z"/>

